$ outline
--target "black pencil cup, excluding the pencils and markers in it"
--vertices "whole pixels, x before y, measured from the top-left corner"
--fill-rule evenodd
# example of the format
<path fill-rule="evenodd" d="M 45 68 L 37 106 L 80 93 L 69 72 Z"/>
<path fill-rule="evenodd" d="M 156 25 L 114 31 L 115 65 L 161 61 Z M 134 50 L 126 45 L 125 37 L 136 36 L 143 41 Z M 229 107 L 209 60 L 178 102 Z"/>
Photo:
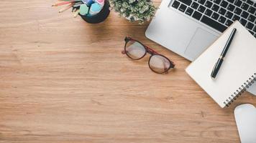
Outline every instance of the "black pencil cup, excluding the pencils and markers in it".
<path fill-rule="evenodd" d="M 104 6 L 101 9 L 101 11 L 99 12 L 99 14 L 96 14 L 94 16 L 82 16 L 81 14 L 79 14 L 82 19 L 90 24 L 98 24 L 102 21 L 104 21 L 108 16 L 109 16 L 109 1 L 104 2 Z"/>

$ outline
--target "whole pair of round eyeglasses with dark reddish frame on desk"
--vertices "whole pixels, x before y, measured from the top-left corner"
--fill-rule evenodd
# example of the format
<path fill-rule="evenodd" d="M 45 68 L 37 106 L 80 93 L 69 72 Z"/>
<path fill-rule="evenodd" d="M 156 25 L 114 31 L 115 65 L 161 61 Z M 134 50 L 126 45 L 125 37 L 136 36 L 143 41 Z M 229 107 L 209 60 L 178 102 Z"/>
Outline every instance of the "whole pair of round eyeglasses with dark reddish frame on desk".
<path fill-rule="evenodd" d="M 140 41 L 132 39 L 131 37 L 125 37 L 124 41 L 125 45 L 122 54 L 127 54 L 129 58 L 134 60 L 142 59 L 147 53 L 151 54 L 148 66 L 150 66 L 150 69 L 157 74 L 167 73 L 170 69 L 174 68 L 175 64 L 173 61 L 170 61 L 170 59 L 162 54 L 158 54 Z"/>

